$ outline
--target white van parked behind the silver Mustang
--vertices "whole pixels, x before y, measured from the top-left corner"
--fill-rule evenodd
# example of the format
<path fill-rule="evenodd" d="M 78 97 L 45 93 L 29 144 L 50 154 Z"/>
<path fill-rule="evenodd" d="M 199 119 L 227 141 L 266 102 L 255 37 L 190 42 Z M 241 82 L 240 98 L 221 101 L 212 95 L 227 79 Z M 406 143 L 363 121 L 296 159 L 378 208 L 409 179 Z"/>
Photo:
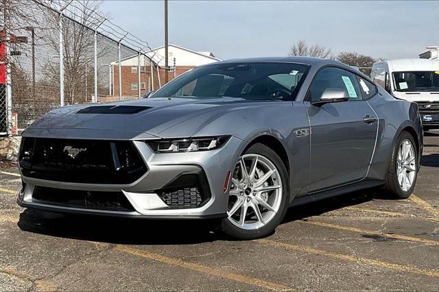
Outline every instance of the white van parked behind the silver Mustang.
<path fill-rule="evenodd" d="M 370 77 L 397 99 L 419 106 L 424 130 L 439 129 L 439 61 L 398 59 L 373 64 Z"/>

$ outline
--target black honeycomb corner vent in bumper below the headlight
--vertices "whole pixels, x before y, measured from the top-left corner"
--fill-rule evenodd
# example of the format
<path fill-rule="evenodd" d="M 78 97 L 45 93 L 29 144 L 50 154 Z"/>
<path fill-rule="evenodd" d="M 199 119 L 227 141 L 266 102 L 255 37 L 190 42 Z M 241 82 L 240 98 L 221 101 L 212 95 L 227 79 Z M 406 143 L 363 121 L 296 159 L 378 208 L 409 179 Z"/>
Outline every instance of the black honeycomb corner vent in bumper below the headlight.
<path fill-rule="evenodd" d="M 204 171 L 183 173 L 156 191 L 156 194 L 174 208 L 198 208 L 211 198 L 209 183 Z"/>

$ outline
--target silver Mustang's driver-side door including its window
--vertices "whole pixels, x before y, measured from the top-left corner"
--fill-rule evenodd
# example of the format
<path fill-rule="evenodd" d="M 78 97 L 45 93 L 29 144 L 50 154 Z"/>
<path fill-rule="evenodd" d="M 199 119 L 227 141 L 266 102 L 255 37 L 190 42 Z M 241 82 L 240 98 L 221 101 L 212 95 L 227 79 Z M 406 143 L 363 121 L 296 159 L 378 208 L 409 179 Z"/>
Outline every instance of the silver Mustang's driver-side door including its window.
<path fill-rule="evenodd" d="M 327 88 L 346 90 L 348 100 L 313 105 Z M 361 95 L 357 75 L 337 67 L 324 68 L 314 77 L 307 99 L 311 126 L 309 192 L 364 178 L 378 122 Z"/>

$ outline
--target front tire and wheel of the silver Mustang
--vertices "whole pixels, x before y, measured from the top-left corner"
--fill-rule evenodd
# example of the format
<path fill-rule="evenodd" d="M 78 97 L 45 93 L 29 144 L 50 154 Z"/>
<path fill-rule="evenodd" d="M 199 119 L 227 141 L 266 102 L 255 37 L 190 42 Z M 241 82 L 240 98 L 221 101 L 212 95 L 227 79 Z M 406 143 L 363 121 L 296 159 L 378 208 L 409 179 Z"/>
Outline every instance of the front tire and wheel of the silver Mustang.
<path fill-rule="evenodd" d="M 270 190 L 263 191 L 267 189 Z M 233 171 L 228 217 L 222 220 L 222 230 L 235 239 L 267 236 L 285 217 L 288 201 L 289 176 L 281 158 L 269 147 L 254 144 L 239 157 Z M 241 219 L 243 210 L 245 215 Z"/>

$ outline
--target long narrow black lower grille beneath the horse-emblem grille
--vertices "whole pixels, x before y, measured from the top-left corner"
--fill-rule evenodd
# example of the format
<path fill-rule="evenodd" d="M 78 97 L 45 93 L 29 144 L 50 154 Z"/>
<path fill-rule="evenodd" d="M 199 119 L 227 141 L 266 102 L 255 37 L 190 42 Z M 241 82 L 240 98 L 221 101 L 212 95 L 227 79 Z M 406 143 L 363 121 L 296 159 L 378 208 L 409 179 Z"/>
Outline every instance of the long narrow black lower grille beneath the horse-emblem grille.
<path fill-rule="evenodd" d="M 134 211 L 122 192 L 76 191 L 36 186 L 32 198 L 56 206 L 121 212 Z"/>

